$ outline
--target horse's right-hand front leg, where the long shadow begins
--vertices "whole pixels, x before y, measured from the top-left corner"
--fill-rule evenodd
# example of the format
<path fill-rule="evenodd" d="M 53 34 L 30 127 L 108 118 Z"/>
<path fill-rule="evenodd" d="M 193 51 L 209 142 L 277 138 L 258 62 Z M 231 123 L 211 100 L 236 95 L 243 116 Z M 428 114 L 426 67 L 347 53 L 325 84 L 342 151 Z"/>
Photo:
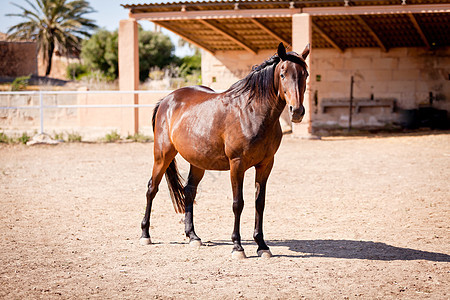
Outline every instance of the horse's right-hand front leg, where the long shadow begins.
<path fill-rule="evenodd" d="M 266 202 L 266 184 L 267 179 L 269 178 L 270 171 L 272 171 L 273 167 L 273 158 L 270 161 L 259 164 L 255 167 L 256 169 L 256 178 L 255 178 L 255 186 L 256 186 L 256 200 L 255 200 L 255 232 L 253 234 L 253 238 L 255 242 L 258 244 L 258 256 L 269 258 L 272 256 L 272 253 L 269 250 L 269 247 L 264 242 L 264 234 L 263 234 L 263 215 L 264 215 L 264 206 Z"/>

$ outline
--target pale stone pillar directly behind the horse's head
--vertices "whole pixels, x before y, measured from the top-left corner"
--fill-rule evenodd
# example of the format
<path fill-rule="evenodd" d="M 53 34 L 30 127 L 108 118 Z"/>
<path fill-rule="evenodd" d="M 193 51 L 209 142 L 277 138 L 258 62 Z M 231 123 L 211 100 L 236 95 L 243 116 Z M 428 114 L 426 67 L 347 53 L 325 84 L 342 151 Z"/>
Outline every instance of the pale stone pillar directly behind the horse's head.
<path fill-rule="evenodd" d="M 311 16 L 306 13 L 295 14 L 292 16 L 292 51 L 301 54 L 307 44 L 311 45 L 312 41 L 312 21 Z M 311 49 L 306 63 L 308 64 L 309 73 L 311 74 L 311 55 L 314 55 L 314 50 Z M 306 113 L 300 124 L 292 124 L 292 133 L 296 137 L 311 138 L 311 76 L 306 82 L 306 92 L 303 101 Z"/>

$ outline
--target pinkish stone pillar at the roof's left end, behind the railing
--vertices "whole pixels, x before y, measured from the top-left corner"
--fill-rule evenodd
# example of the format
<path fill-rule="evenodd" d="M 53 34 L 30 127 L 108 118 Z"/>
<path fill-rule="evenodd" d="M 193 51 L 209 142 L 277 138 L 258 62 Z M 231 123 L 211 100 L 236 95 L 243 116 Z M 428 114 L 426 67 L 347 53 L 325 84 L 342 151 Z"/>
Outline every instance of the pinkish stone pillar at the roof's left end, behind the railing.
<path fill-rule="evenodd" d="M 120 20 L 119 24 L 119 89 L 139 89 L 139 44 L 138 24 L 135 19 Z M 138 104 L 137 94 L 121 95 L 122 104 Z M 138 108 L 122 108 L 120 134 L 122 136 L 139 131 Z"/>

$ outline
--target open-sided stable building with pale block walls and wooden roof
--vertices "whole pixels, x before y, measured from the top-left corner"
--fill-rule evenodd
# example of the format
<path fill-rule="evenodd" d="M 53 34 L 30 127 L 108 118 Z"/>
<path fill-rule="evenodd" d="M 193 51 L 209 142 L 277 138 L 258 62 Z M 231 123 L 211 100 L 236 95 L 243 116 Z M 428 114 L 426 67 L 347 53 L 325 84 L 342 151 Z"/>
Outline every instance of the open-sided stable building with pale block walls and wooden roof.
<path fill-rule="evenodd" d="M 138 88 L 137 22 L 151 21 L 202 49 L 203 84 L 219 90 L 275 54 L 280 42 L 298 53 L 310 43 L 307 118 L 293 124 L 296 135 L 349 125 L 383 128 L 405 122 L 405 115 L 411 117 L 407 123 L 447 119 L 448 0 L 250 0 L 123 7 L 129 19 L 119 26 L 122 90 Z M 129 101 L 138 99 L 130 96 Z M 137 110 L 133 117 L 138 118 Z"/>

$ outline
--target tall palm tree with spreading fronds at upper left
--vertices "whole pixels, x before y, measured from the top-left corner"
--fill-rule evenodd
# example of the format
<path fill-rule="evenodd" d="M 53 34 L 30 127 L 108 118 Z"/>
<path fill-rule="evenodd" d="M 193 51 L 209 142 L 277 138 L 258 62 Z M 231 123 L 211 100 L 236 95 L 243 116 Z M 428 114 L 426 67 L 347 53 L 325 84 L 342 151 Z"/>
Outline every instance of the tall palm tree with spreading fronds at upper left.
<path fill-rule="evenodd" d="M 95 12 L 86 0 L 25 0 L 30 8 L 14 4 L 22 10 L 7 16 L 22 17 L 24 22 L 8 30 L 12 40 L 36 41 L 47 62 L 45 76 L 52 69 L 53 52 L 61 54 L 79 52 L 82 37 L 89 37 L 90 30 L 97 28 L 94 20 L 83 17 Z"/>

